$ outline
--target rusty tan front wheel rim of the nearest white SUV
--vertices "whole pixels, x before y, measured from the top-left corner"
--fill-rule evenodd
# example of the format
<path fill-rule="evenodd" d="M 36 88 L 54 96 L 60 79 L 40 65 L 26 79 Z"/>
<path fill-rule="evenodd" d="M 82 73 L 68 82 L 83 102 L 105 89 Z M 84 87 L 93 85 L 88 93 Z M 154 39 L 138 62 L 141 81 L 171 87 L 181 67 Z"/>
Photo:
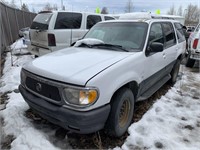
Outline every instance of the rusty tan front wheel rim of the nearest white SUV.
<path fill-rule="evenodd" d="M 122 104 L 119 113 L 119 126 L 124 127 L 127 124 L 128 117 L 129 117 L 129 110 L 130 110 L 130 102 L 125 100 Z"/>

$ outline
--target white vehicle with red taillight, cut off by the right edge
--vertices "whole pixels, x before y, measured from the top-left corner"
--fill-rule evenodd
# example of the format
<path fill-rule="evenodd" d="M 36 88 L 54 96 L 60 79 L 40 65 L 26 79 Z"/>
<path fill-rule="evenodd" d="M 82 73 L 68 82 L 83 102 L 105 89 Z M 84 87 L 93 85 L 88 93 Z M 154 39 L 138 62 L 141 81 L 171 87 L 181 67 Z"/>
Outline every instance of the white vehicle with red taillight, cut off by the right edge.
<path fill-rule="evenodd" d="M 188 51 L 187 51 L 187 67 L 193 67 L 195 61 L 200 60 L 200 24 L 197 25 L 194 32 L 190 34 L 188 39 Z"/>

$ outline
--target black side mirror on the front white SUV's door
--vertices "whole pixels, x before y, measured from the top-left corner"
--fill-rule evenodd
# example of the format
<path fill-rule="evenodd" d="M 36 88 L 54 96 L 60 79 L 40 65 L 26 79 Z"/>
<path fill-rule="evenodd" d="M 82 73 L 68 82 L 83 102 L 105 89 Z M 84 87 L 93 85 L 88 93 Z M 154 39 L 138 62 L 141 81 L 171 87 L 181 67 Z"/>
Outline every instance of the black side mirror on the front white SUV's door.
<path fill-rule="evenodd" d="M 151 53 L 162 52 L 163 49 L 164 49 L 164 46 L 162 43 L 152 42 L 152 43 L 150 43 L 150 45 L 148 46 L 148 48 L 146 50 L 146 55 L 149 55 Z"/>

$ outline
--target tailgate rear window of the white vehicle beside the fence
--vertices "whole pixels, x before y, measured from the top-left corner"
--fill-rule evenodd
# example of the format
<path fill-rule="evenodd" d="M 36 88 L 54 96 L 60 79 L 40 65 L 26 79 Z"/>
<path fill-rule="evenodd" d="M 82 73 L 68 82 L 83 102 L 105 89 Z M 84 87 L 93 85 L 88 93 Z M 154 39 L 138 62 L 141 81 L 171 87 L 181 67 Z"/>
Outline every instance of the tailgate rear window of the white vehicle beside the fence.
<path fill-rule="evenodd" d="M 31 24 L 31 29 L 47 30 L 52 13 L 38 14 Z"/>

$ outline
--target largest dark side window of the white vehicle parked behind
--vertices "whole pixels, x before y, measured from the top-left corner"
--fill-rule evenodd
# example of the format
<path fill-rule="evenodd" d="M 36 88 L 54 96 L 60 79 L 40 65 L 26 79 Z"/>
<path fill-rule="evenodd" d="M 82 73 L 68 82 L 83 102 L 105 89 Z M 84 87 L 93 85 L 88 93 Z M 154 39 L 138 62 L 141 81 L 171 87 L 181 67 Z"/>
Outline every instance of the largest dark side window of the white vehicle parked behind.
<path fill-rule="evenodd" d="M 59 12 L 55 29 L 80 29 L 81 21 L 81 13 Z"/>

